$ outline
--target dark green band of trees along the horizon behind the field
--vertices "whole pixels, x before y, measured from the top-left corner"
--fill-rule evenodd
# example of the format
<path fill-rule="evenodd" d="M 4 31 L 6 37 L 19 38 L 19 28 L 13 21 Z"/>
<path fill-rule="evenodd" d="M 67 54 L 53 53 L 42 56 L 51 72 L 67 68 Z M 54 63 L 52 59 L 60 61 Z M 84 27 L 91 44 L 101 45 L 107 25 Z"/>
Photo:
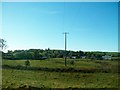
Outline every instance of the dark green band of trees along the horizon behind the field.
<path fill-rule="evenodd" d="M 88 59 L 102 59 L 102 56 L 110 55 L 112 57 L 119 57 L 120 53 L 117 52 L 83 52 L 83 51 L 66 51 L 67 58 L 88 58 Z M 3 59 L 46 59 L 46 58 L 64 58 L 64 50 L 51 50 L 51 49 L 29 49 L 29 50 L 8 50 L 7 53 L 2 52 Z"/>

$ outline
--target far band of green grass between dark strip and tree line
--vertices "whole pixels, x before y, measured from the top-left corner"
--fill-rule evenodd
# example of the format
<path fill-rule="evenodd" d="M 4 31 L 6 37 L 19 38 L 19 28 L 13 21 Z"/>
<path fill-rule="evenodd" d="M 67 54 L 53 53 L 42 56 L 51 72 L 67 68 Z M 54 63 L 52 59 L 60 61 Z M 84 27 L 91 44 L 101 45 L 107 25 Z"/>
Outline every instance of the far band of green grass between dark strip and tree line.
<path fill-rule="evenodd" d="M 98 70 L 105 72 L 118 72 L 118 62 L 110 60 L 74 60 L 74 64 L 70 62 L 73 59 L 67 60 L 67 66 L 64 65 L 64 59 L 48 59 L 48 60 L 30 60 L 30 67 L 41 67 L 41 68 L 52 68 L 52 69 L 69 69 L 73 68 L 76 70 Z M 9 66 L 21 66 L 25 67 L 25 60 L 3 60 L 3 65 Z"/>

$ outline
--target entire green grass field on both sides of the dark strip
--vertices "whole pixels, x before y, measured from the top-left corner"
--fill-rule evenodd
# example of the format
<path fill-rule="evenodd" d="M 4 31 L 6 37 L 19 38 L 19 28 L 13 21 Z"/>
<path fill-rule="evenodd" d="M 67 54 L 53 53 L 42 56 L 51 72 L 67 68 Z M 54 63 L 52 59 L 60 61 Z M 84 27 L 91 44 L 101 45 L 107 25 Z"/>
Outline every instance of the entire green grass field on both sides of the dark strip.
<path fill-rule="evenodd" d="M 117 61 L 101 60 L 75 60 L 74 65 L 70 64 L 71 59 L 67 60 L 67 66 L 64 66 L 63 59 L 49 60 L 30 60 L 29 67 L 48 68 L 44 70 L 24 70 L 24 69 L 2 69 L 2 87 L 45 87 L 45 88 L 117 88 L 119 76 L 117 73 Z M 25 60 L 3 60 L 3 65 L 21 66 Z M 28 67 L 28 68 L 29 68 Z M 49 68 L 61 69 L 82 69 L 93 70 L 103 69 L 108 72 L 59 72 L 50 71 Z"/>

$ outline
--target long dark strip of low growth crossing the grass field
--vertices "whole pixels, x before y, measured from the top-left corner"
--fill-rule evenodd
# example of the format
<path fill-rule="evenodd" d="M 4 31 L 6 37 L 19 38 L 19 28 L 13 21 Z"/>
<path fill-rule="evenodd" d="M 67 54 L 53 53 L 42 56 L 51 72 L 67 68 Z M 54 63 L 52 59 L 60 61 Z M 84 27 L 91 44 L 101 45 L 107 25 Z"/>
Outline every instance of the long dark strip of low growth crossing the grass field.
<path fill-rule="evenodd" d="M 109 68 L 47 68 L 47 67 L 25 67 L 25 66 L 10 66 L 2 65 L 2 69 L 15 69 L 15 70 L 34 70 L 34 71 L 48 71 L 48 72 L 83 72 L 83 73 L 95 73 L 95 72 L 104 72 L 109 73 L 113 70 Z M 114 71 L 114 73 L 118 73 Z"/>

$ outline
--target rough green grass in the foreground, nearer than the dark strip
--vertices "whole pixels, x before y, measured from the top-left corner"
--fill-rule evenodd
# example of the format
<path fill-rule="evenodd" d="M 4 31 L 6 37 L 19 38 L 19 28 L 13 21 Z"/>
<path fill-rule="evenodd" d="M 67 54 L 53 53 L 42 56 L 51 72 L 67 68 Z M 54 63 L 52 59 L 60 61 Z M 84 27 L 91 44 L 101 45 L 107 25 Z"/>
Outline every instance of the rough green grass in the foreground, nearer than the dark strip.
<path fill-rule="evenodd" d="M 23 86 L 46 88 L 117 88 L 116 73 L 66 73 L 3 70 L 3 88 Z"/>

